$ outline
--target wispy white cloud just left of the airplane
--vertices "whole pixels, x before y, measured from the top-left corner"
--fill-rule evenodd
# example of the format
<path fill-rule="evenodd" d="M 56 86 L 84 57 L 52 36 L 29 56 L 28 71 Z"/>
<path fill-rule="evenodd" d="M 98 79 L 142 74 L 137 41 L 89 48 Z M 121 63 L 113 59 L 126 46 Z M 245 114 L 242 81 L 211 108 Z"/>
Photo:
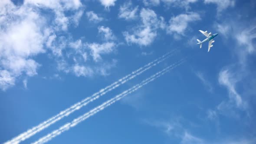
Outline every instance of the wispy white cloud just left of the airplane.
<path fill-rule="evenodd" d="M 167 33 L 177 33 L 184 35 L 188 23 L 197 20 L 201 20 L 198 13 L 179 14 L 177 16 L 171 17 L 169 20 L 169 26 L 167 27 Z"/>

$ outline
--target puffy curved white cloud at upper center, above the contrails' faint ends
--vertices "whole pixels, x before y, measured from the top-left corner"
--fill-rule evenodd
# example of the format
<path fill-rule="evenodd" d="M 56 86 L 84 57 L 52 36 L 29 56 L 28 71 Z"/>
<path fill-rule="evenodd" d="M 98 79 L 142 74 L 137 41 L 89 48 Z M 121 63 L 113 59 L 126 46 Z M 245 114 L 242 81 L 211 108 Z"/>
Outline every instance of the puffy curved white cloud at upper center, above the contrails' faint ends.
<path fill-rule="evenodd" d="M 140 12 L 141 25 L 133 29 L 134 34 L 123 32 L 127 43 L 135 43 L 140 46 L 150 45 L 157 36 L 157 29 L 164 29 L 165 22 L 163 17 L 157 16 L 154 10 L 141 9 Z"/>

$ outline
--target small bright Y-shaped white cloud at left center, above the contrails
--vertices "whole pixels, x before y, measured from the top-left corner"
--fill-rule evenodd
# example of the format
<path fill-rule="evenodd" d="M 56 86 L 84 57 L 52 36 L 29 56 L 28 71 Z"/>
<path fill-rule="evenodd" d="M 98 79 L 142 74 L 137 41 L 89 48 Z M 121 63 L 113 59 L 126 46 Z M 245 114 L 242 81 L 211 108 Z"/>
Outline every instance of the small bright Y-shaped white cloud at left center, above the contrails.
<path fill-rule="evenodd" d="M 115 43 L 112 42 L 106 42 L 102 44 L 98 43 L 91 43 L 88 44 L 88 48 L 91 50 L 91 56 L 95 62 L 98 62 L 102 59 L 102 54 L 107 54 L 110 52 L 113 52 L 115 47 Z"/>

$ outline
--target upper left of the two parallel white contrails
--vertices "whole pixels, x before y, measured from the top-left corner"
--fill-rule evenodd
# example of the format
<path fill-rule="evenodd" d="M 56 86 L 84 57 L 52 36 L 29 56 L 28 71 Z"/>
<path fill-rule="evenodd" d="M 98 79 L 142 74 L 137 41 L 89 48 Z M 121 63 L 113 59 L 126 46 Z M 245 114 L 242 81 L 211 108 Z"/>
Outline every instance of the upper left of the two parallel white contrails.
<path fill-rule="evenodd" d="M 148 69 L 151 69 L 153 66 L 158 65 L 160 62 L 163 62 L 165 59 L 168 59 L 170 56 L 172 56 L 172 53 L 175 52 L 176 49 L 167 52 L 167 54 L 159 57 L 158 59 L 155 59 L 152 62 L 149 62 L 148 64 L 142 66 L 141 68 L 131 72 L 130 74 L 124 76 L 123 78 L 117 80 L 116 82 L 112 83 L 111 85 L 108 85 L 105 88 L 102 88 L 98 92 L 94 93 L 92 96 L 89 96 L 82 101 L 79 101 L 75 103 L 74 105 L 70 106 L 69 108 L 65 109 L 64 111 L 60 111 L 59 114 L 47 119 L 46 121 L 43 121 L 39 125 L 28 129 L 27 131 L 19 134 L 18 136 L 14 137 L 13 139 L 5 142 L 4 144 L 19 144 L 21 141 L 26 140 L 27 138 L 32 137 L 36 133 L 44 130 L 45 128 L 48 128 L 50 125 L 56 123 L 57 121 L 61 120 L 64 117 L 69 116 L 74 111 L 79 110 L 83 106 L 87 105 L 89 102 L 94 101 L 95 99 L 98 99 L 102 95 L 105 95 L 107 92 L 112 91 L 113 89 L 117 88 L 118 86 L 124 84 L 125 82 L 128 82 L 129 80 L 135 78 L 136 76 L 140 75 L 141 73 L 147 71 Z"/>

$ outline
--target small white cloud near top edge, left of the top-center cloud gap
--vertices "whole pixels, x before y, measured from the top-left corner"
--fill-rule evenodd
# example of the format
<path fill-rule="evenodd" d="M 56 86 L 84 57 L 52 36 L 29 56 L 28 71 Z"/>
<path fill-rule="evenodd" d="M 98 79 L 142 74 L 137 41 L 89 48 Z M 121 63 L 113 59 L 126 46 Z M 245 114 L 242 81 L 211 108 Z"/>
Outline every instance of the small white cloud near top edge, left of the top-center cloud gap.
<path fill-rule="evenodd" d="M 119 18 L 123 18 L 125 20 L 134 20 L 137 16 L 136 13 L 138 11 L 138 6 L 132 7 L 131 1 L 124 3 L 124 5 L 119 8 Z"/>

